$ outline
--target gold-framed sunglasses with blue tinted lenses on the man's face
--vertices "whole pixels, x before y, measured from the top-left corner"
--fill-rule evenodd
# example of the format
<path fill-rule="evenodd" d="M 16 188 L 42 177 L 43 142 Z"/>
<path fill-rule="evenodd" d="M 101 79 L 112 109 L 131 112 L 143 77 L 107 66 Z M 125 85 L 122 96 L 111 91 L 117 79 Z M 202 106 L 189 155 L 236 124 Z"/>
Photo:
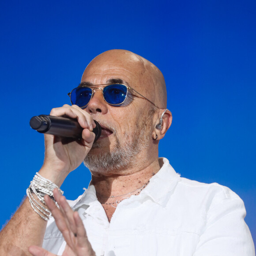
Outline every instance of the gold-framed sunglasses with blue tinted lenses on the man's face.
<path fill-rule="evenodd" d="M 128 90 L 133 90 L 141 97 L 145 98 L 147 101 L 151 102 L 149 99 L 141 95 L 136 90 L 132 89 L 131 87 L 127 87 L 124 84 L 97 84 L 95 86 L 102 86 L 106 85 L 103 90 L 102 88 L 90 88 L 87 86 L 80 86 L 73 89 L 68 96 L 70 97 L 72 105 L 78 105 L 80 108 L 84 109 L 87 107 L 90 99 L 94 95 L 95 90 L 102 90 L 103 99 L 109 105 L 118 106 L 124 103 Z M 151 102 L 154 106 L 158 108 L 153 102 Z M 159 108 L 158 108 L 159 109 Z"/>

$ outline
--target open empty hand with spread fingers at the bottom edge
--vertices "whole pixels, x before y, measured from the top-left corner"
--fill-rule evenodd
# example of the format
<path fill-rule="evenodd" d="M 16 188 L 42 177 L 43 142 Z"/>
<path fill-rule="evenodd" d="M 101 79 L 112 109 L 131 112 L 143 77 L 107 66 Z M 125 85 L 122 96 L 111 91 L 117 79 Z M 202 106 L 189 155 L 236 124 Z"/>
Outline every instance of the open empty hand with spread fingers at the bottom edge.
<path fill-rule="evenodd" d="M 60 208 L 49 196 L 45 196 L 45 203 L 52 212 L 56 225 L 67 243 L 62 256 L 95 256 L 78 212 L 71 209 L 65 197 L 61 196 L 57 189 L 54 189 L 53 194 Z M 28 251 L 33 256 L 56 256 L 35 245 L 31 245 Z"/>

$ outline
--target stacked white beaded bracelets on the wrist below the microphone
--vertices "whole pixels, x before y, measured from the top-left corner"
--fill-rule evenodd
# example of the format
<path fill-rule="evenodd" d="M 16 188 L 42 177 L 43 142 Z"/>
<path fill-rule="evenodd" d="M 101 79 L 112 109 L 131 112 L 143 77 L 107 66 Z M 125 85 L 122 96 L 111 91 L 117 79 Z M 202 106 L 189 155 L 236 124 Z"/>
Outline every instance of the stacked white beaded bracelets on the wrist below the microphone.
<path fill-rule="evenodd" d="M 54 188 L 57 188 L 60 194 L 63 195 L 64 192 L 56 184 L 42 177 L 39 173 L 36 173 L 33 181 L 30 182 L 30 186 L 26 189 L 26 194 L 31 207 L 45 221 L 48 221 L 52 216 L 51 212 L 44 207 L 44 205 L 46 205 L 44 200 L 45 195 L 49 195 L 58 207 L 58 203 L 53 197 Z M 40 203 L 34 198 L 33 194 L 37 196 Z"/>

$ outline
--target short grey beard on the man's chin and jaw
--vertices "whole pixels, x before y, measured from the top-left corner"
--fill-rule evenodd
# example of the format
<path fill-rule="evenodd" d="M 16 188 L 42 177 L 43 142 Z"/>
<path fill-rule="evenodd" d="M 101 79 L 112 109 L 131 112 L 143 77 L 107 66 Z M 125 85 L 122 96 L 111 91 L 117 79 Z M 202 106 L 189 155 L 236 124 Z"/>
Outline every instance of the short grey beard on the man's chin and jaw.
<path fill-rule="evenodd" d="M 121 145 L 116 131 L 113 131 L 113 136 L 116 137 L 114 149 L 99 154 L 89 152 L 83 161 L 84 165 L 90 171 L 98 173 L 109 173 L 114 169 L 122 170 L 127 168 L 136 162 L 136 155 L 149 146 L 152 132 L 148 120 L 140 128 L 135 134 L 126 134 L 126 143 L 123 145 Z M 92 148 L 100 148 L 100 143 L 95 142 Z M 143 159 L 141 160 L 143 161 Z"/>

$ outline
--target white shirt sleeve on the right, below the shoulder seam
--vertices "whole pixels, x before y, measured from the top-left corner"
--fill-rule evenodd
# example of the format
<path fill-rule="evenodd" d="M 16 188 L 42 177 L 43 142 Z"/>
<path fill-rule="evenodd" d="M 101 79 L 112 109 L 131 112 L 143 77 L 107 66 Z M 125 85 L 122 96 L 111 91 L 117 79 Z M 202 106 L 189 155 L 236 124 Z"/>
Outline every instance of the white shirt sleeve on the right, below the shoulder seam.
<path fill-rule="evenodd" d="M 223 187 L 206 209 L 206 226 L 193 256 L 255 256 L 243 201 Z"/>

